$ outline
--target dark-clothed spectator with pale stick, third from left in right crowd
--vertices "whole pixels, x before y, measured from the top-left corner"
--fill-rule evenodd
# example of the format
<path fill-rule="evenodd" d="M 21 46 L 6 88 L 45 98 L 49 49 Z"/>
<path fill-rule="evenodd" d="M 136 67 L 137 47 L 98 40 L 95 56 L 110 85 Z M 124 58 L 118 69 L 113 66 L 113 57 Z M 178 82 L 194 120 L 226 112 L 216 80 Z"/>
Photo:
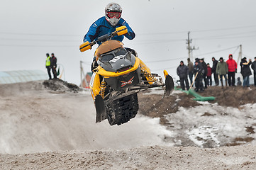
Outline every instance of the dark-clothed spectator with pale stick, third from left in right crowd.
<path fill-rule="evenodd" d="M 199 63 L 199 60 L 196 60 L 194 64 L 194 77 L 195 77 L 195 91 L 204 91 L 204 84 L 203 84 L 203 73 L 204 68 L 201 66 L 201 63 Z"/>

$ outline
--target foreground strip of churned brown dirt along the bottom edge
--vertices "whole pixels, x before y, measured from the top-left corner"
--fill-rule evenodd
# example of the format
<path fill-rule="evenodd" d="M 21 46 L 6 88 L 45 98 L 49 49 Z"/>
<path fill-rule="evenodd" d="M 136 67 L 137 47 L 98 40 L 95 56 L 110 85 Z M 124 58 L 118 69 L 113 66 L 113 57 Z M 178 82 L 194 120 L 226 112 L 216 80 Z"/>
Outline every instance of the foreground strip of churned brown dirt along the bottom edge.
<path fill-rule="evenodd" d="M 255 147 L 139 147 L 0 154 L 0 169 L 255 169 Z"/>

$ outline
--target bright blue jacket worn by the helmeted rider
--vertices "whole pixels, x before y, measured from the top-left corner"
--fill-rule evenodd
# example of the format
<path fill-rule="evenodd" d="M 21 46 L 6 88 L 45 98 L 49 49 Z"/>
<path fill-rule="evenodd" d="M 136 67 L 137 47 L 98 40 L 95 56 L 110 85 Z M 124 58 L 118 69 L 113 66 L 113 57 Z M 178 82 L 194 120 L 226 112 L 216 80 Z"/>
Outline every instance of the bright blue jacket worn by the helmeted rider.
<path fill-rule="evenodd" d="M 116 26 L 113 27 L 111 26 L 110 23 L 108 23 L 108 21 L 106 21 L 105 16 L 103 16 L 91 25 L 87 34 L 84 35 L 84 42 L 87 42 L 87 41 L 92 42 L 93 40 L 97 40 L 102 35 L 114 32 L 116 28 L 120 26 L 127 27 L 128 33 L 124 35 L 126 36 L 126 38 L 128 38 L 129 40 L 133 40 L 133 38 L 135 38 L 135 33 L 133 32 L 132 28 L 130 28 L 128 23 L 126 23 L 126 21 L 123 18 L 120 18 Z M 122 41 L 124 36 L 123 35 L 116 36 L 116 37 L 113 37 L 112 40 Z M 100 45 L 101 42 L 98 42 L 98 44 Z"/>

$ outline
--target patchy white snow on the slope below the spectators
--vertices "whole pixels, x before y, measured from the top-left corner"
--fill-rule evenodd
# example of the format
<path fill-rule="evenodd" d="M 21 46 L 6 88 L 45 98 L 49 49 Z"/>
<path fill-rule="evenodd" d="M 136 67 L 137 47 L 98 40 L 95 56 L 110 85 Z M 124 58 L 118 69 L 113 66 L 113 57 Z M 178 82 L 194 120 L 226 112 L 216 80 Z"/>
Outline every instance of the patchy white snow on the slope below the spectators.
<path fill-rule="evenodd" d="M 199 102 L 201 106 L 179 108 L 177 113 L 167 115 L 169 128 L 174 134 L 185 134 L 199 147 L 220 147 L 235 137 L 253 137 L 248 135 L 246 127 L 256 128 L 256 104 L 246 104 L 242 108 L 218 106 L 216 103 Z M 207 113 L 207 115 L 204 115 Z M 179 145 L 179 143 L 177 143 Z"/>

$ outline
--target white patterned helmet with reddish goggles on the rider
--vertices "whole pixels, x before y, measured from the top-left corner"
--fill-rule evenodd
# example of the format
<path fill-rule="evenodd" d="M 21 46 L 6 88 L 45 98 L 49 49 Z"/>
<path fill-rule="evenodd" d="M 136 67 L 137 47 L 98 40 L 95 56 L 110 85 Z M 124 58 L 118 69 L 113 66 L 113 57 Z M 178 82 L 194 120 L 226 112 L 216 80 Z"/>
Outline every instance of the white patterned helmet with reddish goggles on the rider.
<path fill-rule="evenodd" d="M 122 8 L 119 4 L 109 3 L 105 8 L 106 21 L 108 21 L 111 26 L 116 26 L 122 15 Z"/>

